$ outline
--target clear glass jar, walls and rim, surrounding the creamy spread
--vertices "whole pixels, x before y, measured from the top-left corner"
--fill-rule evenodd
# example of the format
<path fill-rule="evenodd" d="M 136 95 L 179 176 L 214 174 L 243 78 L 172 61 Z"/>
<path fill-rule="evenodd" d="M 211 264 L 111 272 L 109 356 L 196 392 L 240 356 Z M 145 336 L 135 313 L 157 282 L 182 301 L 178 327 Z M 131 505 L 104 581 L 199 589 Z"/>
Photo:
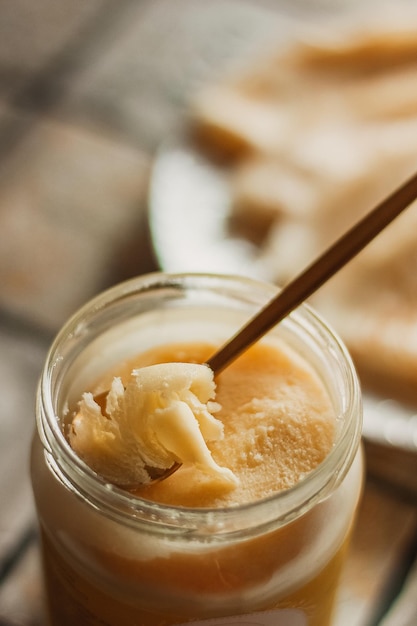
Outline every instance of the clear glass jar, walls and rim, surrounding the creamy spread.
<path fill-rule="evenodd" d="M 64 434 L 82 392 L 118 362 L 172 341 L 220 346 L 275 293 L 154 273 L 99 295 L 58 334 L 31 463 L 50 625 L 330 625 L 361 493 L 361 394 L 346 349 L 310 308 L 264 338 L 312 365 L 337 416 L 333 448 L 295 487 L 230 508 L 157 504 L 106 484 Z"/>

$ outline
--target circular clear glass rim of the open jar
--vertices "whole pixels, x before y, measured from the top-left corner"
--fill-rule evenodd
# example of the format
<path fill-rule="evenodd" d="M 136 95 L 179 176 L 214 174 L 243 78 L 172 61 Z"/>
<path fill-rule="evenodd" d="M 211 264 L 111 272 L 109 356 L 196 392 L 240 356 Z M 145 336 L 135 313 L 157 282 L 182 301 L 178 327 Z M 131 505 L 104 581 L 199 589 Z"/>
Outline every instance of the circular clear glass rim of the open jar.
<path fill-rule="evenodd" d="M 303 304 L 281 323 L 294 328 L 313 329 L 320 333 L 327 347 L 338 357 L 342 367 L 340 380 L 344 384 L 344 415 L 337 416 L 342 422 L 332 450 L 307 477 L 293 487 L 254 502 L 216 508 L 190 508 L 160 504 L 108 484 L 83 462 L 69 445 L 60 418 L 54 406 L 51 388 L 60 382 L 57 376 L 63 360 L 62 347 L 77 342 L 88 324 L 111 304 L 123 303 L 132 297 L 158 289 L 227 289 L 242 291 L 245 297 L 262 294 L 267 300 L 274 296 L 278 287 L 241 276 L 205 273 L 170 274 L 153 272 L 115 285 L 98 294 L 64 324 L 53 341 L 41 378 L 37 395 L 38 432 L 44 446 L 47 463 L 68 489 L 91 506 L 105 510 L 109 517 L 135 526 L 145 523 L 159 532 L 191 532 L 210 535 L 239 534 L 248 528 L 270 524 L 284 524 L 300 515 L 313 500 L 323 499 L 343 480 L 353 462 L 361 437 L 362 405 L 358 378 L 352 359 L 331 326 L 309 305 Z M 342 419 L 343 418 L 343 419 Z"/>

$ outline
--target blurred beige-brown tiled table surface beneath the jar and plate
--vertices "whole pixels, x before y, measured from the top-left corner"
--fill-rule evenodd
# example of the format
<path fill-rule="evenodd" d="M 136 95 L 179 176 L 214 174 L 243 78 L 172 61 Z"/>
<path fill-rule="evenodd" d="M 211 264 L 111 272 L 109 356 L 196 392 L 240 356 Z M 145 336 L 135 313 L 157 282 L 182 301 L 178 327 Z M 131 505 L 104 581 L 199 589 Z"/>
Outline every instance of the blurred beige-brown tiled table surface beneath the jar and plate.
<path fill-rule="evenodd" d="M 190 92 L 279 13 L 279 3 L 255 4 L 2 3 L 1 625 L 43 623 L 28 457 L 48 346 L 91 296 L 157 268 L 146 222 L 154 152 L 182 128 Z M 365 451 L 335 626 L 415 626 L 416 489 L 403 479 L 417 475 L 416 458 L 369 442 Z"/>

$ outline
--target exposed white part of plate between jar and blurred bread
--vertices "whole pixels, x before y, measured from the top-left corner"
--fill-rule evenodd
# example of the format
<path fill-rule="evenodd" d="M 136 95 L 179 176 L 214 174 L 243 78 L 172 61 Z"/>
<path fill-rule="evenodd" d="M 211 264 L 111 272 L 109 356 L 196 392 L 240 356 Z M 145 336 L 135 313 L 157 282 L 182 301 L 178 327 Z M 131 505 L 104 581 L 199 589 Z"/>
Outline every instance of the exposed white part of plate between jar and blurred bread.
<path fill-rule="evenodd" d="M 157 156 L 149 223 L 161 268 L 267 278 L 258 251 L 229 233 L 227 173 L 190 145 L 171 143 Z"/>

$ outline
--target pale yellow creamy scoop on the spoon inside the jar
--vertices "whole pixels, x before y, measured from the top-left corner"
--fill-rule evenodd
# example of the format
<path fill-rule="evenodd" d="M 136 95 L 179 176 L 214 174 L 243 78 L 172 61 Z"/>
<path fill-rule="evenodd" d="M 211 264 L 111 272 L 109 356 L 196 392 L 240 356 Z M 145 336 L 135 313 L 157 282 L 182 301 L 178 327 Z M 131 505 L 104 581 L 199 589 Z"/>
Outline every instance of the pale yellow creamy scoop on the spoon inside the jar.
<path fill-rule="evenodd" d="M 126 387 L 114 378 L 102 410 L 84 393 L 69 429 L 74 451 L 106 481 L 121 487 L 150 482 L 147 468 L 195 465 L 225 488 L 231 470 L 212 458 L 207 442 L 223 437 L 213 416 L 213 372 L 206 365 L 162 363 L 133 370 Z"/>

